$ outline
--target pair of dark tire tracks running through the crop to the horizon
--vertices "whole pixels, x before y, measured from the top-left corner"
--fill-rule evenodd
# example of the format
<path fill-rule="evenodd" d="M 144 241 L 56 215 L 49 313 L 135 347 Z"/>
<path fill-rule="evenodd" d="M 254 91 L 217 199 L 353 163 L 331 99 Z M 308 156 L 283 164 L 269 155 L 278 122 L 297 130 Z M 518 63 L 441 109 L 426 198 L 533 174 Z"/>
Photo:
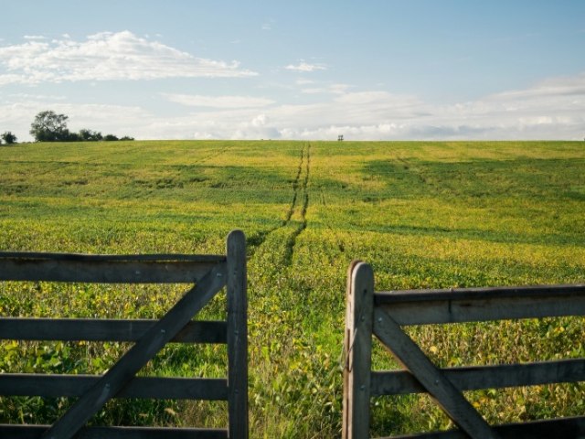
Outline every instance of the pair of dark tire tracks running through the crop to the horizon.
<path fill-rule="evenodd" d="M 253 256 L 254 253 L 261 248 L 262 244 L 269 238 L 269 236 L 272 233 L 277 233 L 280 232 L 281 230 L 291 228 L 295 222 L 298 222 L 298 225 L 285 238 L 284 249 L 281 253 L 282 258 L 280 258 L 281 264 L 283 266 L 288 266 L 291 264 L 291 262 L 293 261 L 293 252 L 294 246 L 296 245 L 296 240 L 298 236 L 303 232 L 303 230 L 306 229 L 307 227 L 306 212 L 307 209 L 309 208 L 309 193 L 307 190 L 307 186 L 309 183 L 310 173 L 311 145 L 308 144 L 306 146 L 303 146 L 303 149 L 301 150 L 299 166 L 297 168 L 297 172 L 293 180 L 293 199 L 291 200 L 291 204 L 286 212 L 284 219 L 282 219 L 282 224 L 272 229 L 259 232 L 254 236 L 250 236 L 248 238 L 250 256 Z M 299 206 L 301 200 L 302 205 Z M 300 221 L 293 219 L 293 216 L 297 212 L 299 212 L 300 214 L 301 217 Z"/>

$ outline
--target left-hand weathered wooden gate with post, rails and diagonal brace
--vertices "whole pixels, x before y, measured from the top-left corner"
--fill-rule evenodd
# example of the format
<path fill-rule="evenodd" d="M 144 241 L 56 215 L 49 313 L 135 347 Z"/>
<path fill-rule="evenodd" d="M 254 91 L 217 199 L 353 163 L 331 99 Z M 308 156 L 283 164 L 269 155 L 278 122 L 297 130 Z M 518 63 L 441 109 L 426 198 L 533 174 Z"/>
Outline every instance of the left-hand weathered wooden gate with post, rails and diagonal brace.
<path fill-rule="evenodd" d="M 0 425 L 2 438 L 247 438 L 248 348 L 246 244 L 229 234 L 227 255 L 105 256 L 0 253 L 1 281 L 195 284 L 160 320 L 0 318 L 0 338 L 132 341 L 103 375 L 0 374 L 0 395 L 77 398 L 52 425 Z M 224 286 L 226 321 L 193 321 Z M 135 378 L 168 342 L 227 343 L 227 379 Z M 227 429 L 87 427 L 112 398 L 227 401 Z"/>

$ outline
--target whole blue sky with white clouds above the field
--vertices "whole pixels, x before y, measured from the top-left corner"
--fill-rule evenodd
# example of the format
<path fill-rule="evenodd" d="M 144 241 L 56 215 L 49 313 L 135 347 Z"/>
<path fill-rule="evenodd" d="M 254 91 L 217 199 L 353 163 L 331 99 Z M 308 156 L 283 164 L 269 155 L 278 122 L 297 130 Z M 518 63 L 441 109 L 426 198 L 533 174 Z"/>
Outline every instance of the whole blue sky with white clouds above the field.
<path fill-rule="evenodd" d="M 0 1 L 0 131 L 582 139 L 585 1 Z"/>

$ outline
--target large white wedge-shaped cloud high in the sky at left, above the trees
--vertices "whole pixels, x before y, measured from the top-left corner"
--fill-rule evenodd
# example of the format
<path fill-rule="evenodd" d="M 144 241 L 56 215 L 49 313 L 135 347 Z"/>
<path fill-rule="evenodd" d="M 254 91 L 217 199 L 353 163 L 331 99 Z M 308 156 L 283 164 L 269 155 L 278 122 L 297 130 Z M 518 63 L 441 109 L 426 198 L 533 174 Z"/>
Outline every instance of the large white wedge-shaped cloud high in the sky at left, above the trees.
<path fill-rule="evenodd" d="M 129 31 L 102 32 L 80 42 L 68 37 L 51 42 L 28 39 L 21 45 L 0 48 L 0 85 L 257 75 L 240 69 L 237 61 L 196 58 Z"/>

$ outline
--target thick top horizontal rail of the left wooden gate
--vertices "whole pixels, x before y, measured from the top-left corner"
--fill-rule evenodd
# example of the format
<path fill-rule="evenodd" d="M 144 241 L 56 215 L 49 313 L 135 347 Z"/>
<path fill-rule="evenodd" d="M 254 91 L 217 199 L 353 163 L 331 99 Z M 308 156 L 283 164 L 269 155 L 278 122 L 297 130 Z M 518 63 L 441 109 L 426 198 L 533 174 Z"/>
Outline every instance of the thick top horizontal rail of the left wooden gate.
<path fill-rule="evenodd" d="M 96 284 L 192 284 L 225 256 L 0 253 L 0 280 Z"/>

